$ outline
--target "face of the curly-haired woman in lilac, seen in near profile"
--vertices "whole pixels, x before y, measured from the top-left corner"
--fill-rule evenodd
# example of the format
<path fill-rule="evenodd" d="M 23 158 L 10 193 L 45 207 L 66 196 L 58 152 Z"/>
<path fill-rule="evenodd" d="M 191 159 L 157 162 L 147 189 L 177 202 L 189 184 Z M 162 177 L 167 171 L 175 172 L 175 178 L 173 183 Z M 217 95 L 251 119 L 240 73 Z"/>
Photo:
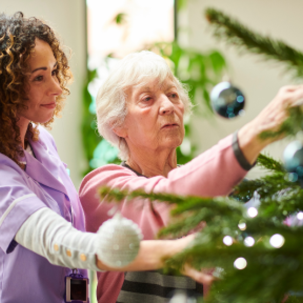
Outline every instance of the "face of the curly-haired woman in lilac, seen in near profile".
<path fill-rule="evenodd" d="M 25 91 L 28 109 L 22 110 L 19 116 L 25 122 L 46 123 L 54 114 L 57 96 L 62 94 L 56 76 L 57 62 L 49 44 L 36 39 L 27 64 Z"/>

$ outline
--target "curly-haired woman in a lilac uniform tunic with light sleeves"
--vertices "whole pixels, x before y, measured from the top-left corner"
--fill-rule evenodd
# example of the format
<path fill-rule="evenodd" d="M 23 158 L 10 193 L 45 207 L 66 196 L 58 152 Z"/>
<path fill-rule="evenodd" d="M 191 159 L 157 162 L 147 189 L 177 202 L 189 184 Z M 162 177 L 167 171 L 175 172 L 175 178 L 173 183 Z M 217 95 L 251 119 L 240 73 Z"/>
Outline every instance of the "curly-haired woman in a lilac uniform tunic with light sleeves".
<path fill-rule="evenodd" d="M 85 232 L 77 191 L 42 127 L 63 108 L 70 78 L 68 60 L 48 25 L 22 13 L 0 14 L 1 303 L 63 303 L 71 268 L 82 268 L 84 278 L 84 269 L 117 270 L 98 257 L 103 236 Z M 136 259 L 119 270 L 159 268 L 163 257 L 190 240 L 142 241 Z M 212 280 L 191 268 L 186 273 Z"/>

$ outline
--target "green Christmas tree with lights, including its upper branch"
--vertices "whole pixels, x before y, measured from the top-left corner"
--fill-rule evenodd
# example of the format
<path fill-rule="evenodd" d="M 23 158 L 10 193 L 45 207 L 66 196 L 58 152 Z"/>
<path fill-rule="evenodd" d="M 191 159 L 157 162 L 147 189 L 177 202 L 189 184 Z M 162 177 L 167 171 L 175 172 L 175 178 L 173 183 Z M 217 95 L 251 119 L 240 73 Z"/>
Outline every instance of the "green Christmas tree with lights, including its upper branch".
<path fill-rule="evenodd" d="M 240 49 L 284 64 L 294 77 L 303 77 L 303 54 L 282 41 L 253 32 L 215 9 L 206 11 L 215 36 Z M 301 108 L 289 109 L 289 118 L 269 136 L 297 136 L 303 130 Z M 201 221 L 207 226 L 182 253 L 167 260 L 178 272 L 184 263 L 197 269 L 215 268 L 217 280 L 205 302 L 303 302 L 303 146 L 295 141 L 286 163 L 260 154 L 257 165 L 268 173 L 242 181 L 229 197 L 201 198 L 169 194 L 132 193 L 102 189 L 108 201 L 144 197 L 174 203 L 173 223 L 159 236 L 180 237 Z M 288 158 L 287 158 L 288 157 Z M 247 203 L 246 203 L 247 202 Z"/>

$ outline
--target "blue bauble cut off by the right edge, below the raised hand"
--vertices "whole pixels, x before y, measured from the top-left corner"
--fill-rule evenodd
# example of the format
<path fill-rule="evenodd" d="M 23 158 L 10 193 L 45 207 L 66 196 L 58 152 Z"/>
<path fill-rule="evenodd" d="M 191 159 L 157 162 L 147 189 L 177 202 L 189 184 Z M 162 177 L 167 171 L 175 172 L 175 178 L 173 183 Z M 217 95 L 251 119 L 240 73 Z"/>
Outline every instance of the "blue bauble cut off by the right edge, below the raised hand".
<path fill-rule="evenodd" d="M 283 153 L 284 167 L 288 174 L 288 180 L 296 182 L 299 180 L 303 186 L 303 144 L 296 140 L 289 143 Z"/>

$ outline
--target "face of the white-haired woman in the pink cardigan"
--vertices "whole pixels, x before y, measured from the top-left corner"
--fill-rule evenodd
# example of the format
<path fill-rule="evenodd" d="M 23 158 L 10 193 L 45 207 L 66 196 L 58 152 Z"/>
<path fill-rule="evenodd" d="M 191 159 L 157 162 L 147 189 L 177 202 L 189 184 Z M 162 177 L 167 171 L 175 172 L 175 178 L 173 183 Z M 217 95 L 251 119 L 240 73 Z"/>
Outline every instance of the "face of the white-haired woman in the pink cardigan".
<path fill-rule="evenodd" d="M 184 105 L 171 79 L 159 86 L 157 81 L 127 92 L 128 114 L 123 137 L 131 148 L 174 149 L 184 137 Z"/>

